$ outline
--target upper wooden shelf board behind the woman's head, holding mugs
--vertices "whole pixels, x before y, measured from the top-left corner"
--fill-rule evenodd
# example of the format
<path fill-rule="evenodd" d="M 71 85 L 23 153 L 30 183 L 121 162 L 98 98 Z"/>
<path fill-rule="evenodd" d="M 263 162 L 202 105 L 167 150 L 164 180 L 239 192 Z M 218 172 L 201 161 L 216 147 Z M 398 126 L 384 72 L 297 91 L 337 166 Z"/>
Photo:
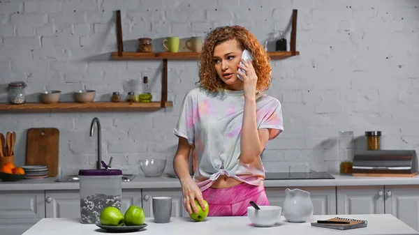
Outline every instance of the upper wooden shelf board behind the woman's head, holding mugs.
<path fill-rule="evenodd" d="M 118 52 L 112 52 L 111 57 L 115 60 L 196 60 L 198 59 L 199 52 L 122 52 L 122 56 L 118 56 Z M 300 52 L 267 52 L 270 59 L 285 59 L 291 56 L 299 55 Z"/>

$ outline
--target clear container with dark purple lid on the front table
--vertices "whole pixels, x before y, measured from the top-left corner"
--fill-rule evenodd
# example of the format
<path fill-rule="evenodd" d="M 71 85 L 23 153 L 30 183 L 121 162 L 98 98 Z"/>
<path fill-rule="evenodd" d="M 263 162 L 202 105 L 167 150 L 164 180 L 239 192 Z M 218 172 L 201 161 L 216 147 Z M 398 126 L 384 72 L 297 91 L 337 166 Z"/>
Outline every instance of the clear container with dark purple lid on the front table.
<path fill-rule="evenodd" d="M 80 169 L 80 218 L 82 224 L 95 224 L 103 209 L 121 210 L 122 171 L 120 169 Z"/>

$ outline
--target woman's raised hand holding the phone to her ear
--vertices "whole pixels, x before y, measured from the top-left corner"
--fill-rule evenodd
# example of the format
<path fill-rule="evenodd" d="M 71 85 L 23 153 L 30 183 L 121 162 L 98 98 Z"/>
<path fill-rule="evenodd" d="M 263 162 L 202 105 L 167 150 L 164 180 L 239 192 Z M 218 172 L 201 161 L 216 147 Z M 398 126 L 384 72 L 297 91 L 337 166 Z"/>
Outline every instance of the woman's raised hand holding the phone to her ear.
<path fill-rule="evenodd" d="M 244 61 L 241 59 L 243 66 L 239 64 L 239 68 L 244 70 L 246 73 L 237 71 L 237 74 L 242 76 L 244 87 L 243 94 L 244 98 L 255 98 L 256 97 L 256 84 L 258 83 L 258 76 L 256 76 L 255 69 L 251 61 Z"/>

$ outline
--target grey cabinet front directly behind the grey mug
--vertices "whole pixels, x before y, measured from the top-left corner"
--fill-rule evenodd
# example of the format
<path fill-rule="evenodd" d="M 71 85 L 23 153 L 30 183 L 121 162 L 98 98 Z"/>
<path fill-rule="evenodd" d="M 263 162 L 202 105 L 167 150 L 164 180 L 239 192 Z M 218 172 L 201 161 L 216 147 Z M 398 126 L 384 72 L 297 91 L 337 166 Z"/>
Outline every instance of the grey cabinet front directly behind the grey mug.
<path fill-rule="evenodd" d="M 172 217 L 189 217 L 184 209 L 182 190 L 173 188 L 142 190 L 142 209 L 146 217 L 153 217 L 153 197 L 172 197 Z"/>

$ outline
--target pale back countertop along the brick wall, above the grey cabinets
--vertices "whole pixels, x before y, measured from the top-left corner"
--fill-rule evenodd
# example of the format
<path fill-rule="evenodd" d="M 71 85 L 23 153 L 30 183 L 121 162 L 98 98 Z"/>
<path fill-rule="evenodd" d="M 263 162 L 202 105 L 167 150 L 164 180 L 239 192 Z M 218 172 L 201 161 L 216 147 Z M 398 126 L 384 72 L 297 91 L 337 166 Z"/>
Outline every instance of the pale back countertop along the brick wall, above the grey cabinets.
<path fill-rule="evenodd" d="M 361 177 L 333 174 L 335 179 L 265 180 L 265 187 L 350 186 L 350 185 L 419 185 L 419 175 L 414 177 Z M 78 190 L 79 183 L 55 182 L 56 178 L 24 179 L 1 182 L 1 190 Z M 145 177 L 138 175 L 131 182 L 123 182 L 123 189 L 180 188 L 177 178 L 166 175 Z"/>

